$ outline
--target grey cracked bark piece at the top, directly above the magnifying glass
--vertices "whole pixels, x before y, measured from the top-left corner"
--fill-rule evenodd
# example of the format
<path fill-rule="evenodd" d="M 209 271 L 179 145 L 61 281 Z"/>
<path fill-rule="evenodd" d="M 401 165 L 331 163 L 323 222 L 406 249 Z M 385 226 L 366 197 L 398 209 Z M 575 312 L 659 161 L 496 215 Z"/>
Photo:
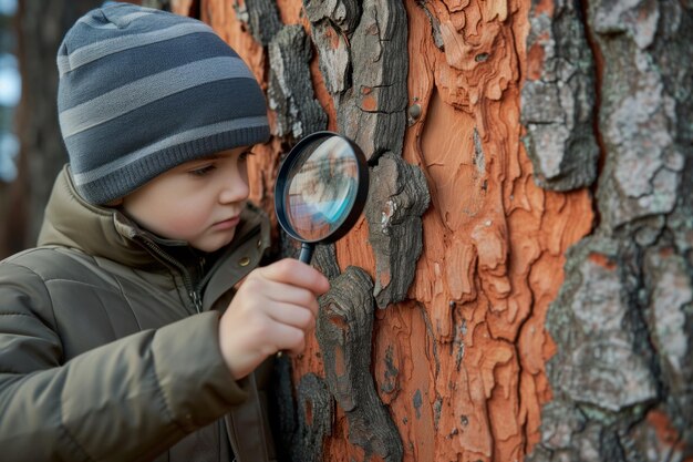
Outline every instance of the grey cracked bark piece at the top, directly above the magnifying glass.
<path fill-rule="evenodd" d="M 340 132 L 374 161 L 406 125 L 406 13 L 400 2 L 304 1 Z"/>

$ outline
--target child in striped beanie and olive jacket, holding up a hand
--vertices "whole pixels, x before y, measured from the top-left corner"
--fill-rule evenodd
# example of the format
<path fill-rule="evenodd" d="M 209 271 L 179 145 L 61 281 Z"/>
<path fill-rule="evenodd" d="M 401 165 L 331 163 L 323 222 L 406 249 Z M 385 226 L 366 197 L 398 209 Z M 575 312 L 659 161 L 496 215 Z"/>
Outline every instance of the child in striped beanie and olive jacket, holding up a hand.
<path fill-rule="evenodd" d="M 70 163 L 39 247 L 0 264 L 2 460 L 276 459 L 254 370 L 303 349 L 329 283 L 251 270 L 259 85 L 208 25 L 128 3 L 81 18 L 58 66 Z"/>

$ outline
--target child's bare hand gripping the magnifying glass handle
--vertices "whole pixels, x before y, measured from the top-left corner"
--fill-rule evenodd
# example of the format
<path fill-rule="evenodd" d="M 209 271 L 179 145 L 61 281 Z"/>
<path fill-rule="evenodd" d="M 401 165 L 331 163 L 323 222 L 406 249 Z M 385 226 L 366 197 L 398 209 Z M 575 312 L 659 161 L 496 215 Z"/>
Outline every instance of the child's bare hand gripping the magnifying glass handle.
<path fill-rule="evenodd" d="M 251 271 L 219 322 L 219 347 L 241 379 L 270 355 L 298 353 L 316 325 L 319 295 L 330 288 L 317 269 L 286 258 Z"/>

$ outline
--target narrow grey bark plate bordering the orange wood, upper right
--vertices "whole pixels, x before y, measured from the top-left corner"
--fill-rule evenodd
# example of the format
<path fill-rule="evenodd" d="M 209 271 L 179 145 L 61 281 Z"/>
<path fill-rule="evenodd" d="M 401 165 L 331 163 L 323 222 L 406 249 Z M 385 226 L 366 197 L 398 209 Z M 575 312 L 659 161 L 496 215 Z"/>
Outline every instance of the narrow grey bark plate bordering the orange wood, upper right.
<path fill-rule="evenodd" d="M 579 0 L 534 1 L 521 122 L 535 179 L 570 191 L 597 178 L 594 62 Z"/>

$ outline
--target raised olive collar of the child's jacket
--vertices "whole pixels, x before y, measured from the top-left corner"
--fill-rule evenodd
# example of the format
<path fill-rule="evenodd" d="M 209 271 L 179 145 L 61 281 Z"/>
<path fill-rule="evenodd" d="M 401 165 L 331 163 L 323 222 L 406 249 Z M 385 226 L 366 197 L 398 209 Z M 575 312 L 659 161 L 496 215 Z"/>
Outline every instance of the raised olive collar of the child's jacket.
<path fill-rule="evenodd" d="M 149 270 L 165 268 L 161 251 L 183 266 L 199 256 L 187 243 L 157 237 L 116 208 L 84 201 L 72 182 L 69 165 L 63 167 L 53 186 L 38 244 L 76 248 L 95 257 Z M 214 287 L 216 295 L 228 290 L 257 266 L 268 247 L 269 220 L 258 207 L 248 204 L 241 213 L 234 242 L 221 250 L 207 286 Z M 242 250 L 244 255 L 236 256 L 237 250 Z M 205 294 L 205 299 L 208 298 Z"/>

